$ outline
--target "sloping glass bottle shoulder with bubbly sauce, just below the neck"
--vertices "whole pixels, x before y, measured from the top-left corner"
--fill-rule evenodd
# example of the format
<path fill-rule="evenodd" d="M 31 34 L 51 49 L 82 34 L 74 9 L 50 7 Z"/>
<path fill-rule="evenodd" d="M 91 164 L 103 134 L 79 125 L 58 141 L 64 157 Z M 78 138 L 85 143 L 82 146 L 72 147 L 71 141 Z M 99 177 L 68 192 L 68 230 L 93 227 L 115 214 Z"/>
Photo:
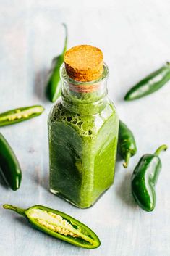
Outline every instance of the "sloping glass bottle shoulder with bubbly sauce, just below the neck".
<path fill-rule="evenodd" d="M 67 110 L 63 106 L 61 99 L 59 99 L 51 109 L 48 117 L 48 125 L 64 123 L 75 129 L 81 136 L 95 136 L 109 120 L 112 120 L 116 127 L 118 126 L 119 117 L 113 102 L 110 100 L 108 100 L 103 110 L 97 114 L 81 115 Z"/>

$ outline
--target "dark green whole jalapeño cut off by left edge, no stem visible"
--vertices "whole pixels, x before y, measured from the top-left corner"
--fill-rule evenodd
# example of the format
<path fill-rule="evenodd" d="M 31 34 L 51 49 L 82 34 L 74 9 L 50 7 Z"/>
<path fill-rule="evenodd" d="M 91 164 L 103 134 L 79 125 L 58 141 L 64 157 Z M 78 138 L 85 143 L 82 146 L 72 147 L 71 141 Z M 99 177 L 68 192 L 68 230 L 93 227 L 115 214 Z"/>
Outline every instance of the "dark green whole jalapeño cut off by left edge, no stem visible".
<path fill-rule="evenodd" d="M 12 190 L 20 187 L 22 173 L 20 164 L 11 146 L 9 146 L 4 136 L 0 133 L 0 171 L 7 185 Z"/>

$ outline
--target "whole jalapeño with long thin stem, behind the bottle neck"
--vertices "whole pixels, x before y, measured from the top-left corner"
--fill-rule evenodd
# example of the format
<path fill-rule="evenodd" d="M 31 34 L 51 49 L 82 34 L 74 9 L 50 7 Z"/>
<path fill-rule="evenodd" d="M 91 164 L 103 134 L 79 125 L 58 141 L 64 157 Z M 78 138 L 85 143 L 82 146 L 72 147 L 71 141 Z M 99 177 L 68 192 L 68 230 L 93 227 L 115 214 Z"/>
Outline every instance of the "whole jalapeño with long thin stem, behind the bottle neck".
<path fill-rule="evenodd" d="M 61 64 L 64 62 L 64 54 L 67 51 L 67 25 L 63 24 L 66 32 L 65 36 L 65 42 L 64 42 L 64 49 L 62 53 L 54 57 L 52 60 L 51 70 L 49 73 L 48 81 L 47 81 L 47 87 L 46 87 L 46 94 L 48 96 L 48 99 L 51 102 L 56 102 L 56 99 L 59 98 L 61 95 L 61 81 L 60 81 L 60 67 Z"/>

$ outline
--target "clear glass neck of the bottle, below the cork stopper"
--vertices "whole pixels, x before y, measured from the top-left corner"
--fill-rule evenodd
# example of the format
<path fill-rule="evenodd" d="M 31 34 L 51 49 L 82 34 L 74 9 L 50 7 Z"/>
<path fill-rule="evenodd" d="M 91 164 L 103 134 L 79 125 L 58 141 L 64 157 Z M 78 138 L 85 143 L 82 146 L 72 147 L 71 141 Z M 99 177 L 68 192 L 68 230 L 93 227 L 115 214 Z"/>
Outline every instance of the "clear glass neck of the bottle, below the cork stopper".
<path fill-rule="evenodd" d="M 109 76 L 106 65 L 101 78 L 91 82 L 72 80 L 67 75 L 64 64 L 61 66 L 60 76 L 62 104 L 67 110 L 81 115 L 95 115 L 106 106 Z"/>

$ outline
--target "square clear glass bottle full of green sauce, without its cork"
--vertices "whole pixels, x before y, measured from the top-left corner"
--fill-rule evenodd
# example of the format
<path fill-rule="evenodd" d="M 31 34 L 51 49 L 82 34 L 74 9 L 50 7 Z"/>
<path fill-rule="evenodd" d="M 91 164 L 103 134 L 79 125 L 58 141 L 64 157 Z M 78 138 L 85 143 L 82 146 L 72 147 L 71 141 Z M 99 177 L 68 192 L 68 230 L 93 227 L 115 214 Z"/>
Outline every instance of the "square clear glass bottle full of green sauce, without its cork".
<path fill-rule="evenodd" d="M 90 207 L 114 181 L 119 118 L 107 96 L 109 68 L 79 82 L 60 70 L 61 98 L 48 117 L 50 191 Z"/>

